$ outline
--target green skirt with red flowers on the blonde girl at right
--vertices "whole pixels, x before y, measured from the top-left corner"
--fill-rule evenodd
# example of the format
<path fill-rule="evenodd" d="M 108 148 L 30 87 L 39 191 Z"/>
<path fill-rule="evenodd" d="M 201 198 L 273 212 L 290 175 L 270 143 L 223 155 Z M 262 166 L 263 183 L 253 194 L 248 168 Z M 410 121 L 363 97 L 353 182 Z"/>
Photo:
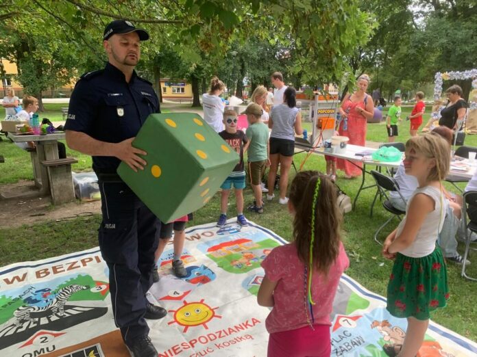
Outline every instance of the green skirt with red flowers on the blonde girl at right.
<path fill-rule="evenodd" d="M 411 258 L 397 253 L 387 288 L 387 310 L 395 317 L 429 319 L 449 299 L 447 269 L 441 253 Z"/>

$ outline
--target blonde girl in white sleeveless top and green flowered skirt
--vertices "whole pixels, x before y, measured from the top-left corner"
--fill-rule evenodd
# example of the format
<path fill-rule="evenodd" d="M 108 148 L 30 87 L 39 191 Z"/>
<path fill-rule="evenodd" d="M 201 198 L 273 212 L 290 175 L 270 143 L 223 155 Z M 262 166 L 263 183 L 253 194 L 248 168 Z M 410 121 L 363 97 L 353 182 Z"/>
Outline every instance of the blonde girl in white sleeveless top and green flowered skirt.
<path fill-rule="evenodd" d="M 383 348 L 400 357 L 417 354 L 430 311 L 444 307 L 449 298 L 445 261 L 436 246 L 447 208 L 441 180 L 449 166 L 449 144 L 443 137 L 426 134 L 406 142 L 404 168 L 406 174 L 417 178 L 419 187 L 408 200 L 406 217 L 382 248 L 387 259 L 395 260 L 387 288 L 387 310 L 408 321 L 404 343 Z"/>

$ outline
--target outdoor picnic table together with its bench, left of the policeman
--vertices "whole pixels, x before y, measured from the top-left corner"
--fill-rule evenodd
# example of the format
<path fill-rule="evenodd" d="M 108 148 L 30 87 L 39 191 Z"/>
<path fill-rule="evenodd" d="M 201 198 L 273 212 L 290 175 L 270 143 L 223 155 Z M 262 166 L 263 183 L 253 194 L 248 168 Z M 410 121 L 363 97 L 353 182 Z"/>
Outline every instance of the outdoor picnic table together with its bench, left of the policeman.
<path fill-rule="evenodd" d="M 71 164 L 76 159 L 58 157 L 58 140 L 65 138 L 62 131 L 46 135 L 25 135 L 8 133 L 13 142 L 34 142 L 36 148 L 30 150 L 34 182 L 38 191 L 28 196 L 49 196 L 53 204 L 75 200 Z M 23 196 L 23 195 L 21 195 Z M 5 197 L 3 197 L 5 198 Z"/>

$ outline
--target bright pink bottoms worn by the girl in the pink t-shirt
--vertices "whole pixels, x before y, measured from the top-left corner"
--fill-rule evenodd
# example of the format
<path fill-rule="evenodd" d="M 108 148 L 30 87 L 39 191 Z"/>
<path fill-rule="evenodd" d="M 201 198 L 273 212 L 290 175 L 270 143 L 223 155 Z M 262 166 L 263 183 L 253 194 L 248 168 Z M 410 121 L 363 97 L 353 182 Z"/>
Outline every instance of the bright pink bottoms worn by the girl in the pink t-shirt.
<path fill-rule="evenodd" d="M 329 357 L 331 354 L 330 326 L 315 325 L 270 334 L 268 356 Z"/>

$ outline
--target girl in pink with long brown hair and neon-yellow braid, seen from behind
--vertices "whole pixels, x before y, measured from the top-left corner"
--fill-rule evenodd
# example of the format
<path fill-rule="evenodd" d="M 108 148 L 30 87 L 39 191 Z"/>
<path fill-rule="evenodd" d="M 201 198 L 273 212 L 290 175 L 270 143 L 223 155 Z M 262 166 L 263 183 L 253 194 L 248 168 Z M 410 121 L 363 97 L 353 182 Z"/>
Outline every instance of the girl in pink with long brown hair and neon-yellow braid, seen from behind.
<path fill-rule="evenodd" d="M 341 243 L 337 191 L 328 176 L 299 172 L 290 185 L 293 242 L 262 262 L 258 304 L 273 307 L 268 356 L 330 356 L 330 314 L 341 274 L 350 265 Z"/>

